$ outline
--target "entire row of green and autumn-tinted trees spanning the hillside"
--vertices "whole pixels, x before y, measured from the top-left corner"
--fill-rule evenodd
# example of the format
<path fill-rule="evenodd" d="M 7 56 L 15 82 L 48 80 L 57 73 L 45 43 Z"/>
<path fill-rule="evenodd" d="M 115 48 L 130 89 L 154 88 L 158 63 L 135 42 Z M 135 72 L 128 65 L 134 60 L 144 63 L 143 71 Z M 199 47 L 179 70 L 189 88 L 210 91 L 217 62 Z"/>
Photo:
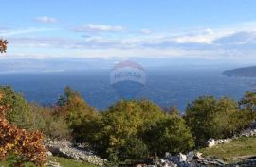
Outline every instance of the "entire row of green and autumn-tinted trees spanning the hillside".
<path fill-rule="evenodd" d="M 239 104 L 227 97 L 199 97 L 187 106 L 183 117 L 175 107 L 160 109 L 148 100 L 121 100 L 98 112 L 70 87 L 55 107 L 28 104 L 10 87 L 0 87 L 0 92 L 5 93 L 0 105 L 9 105 L 7 118 L 12 124 L 40 130 L 49 138 L 72 136 L 88 142 L 102 158 L 109 159 L 109 166 L 165 152 L 186 152 L 194 142 L 202 146 L 210 138 L 232 136 L 249 125 L 256 113 L 254 92 L 247 92 Z"/>

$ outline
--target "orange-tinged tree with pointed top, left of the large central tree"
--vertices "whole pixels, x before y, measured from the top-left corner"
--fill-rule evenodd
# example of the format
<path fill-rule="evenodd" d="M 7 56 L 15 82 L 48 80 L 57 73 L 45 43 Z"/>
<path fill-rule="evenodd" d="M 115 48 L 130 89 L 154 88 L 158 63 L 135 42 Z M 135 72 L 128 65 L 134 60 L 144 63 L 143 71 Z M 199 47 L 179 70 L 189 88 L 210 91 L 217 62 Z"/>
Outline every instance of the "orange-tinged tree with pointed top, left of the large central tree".
<path fill-rule="evenodd" d="M 79 92 L 70 87 L 66 87 L 64 95 L 58 99 L 54 118 L 64 127 L 68 126 L 75 141 L 91 144 L 99 142 L 96 134 L 99 131 L 97 129 L 100 128 L 98 125 L 100 114 L 82 99 Z"/>

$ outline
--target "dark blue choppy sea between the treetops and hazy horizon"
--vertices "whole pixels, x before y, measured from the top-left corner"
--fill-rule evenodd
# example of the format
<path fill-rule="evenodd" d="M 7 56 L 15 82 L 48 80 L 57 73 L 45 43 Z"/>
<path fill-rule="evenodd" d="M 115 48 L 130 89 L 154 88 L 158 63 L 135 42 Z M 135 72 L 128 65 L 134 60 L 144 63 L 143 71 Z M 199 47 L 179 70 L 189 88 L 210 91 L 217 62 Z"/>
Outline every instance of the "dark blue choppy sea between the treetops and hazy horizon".
<path fill-rule="evenodd" d="M 110 84 L 111 70 L 85 70 L 0 74 L 0 85 L 22 92 L 29 102 L 54 105 L 64 88 L 81 92 L 85 101 L 99 110 L 107 109 L 122 97 Z M 130 89 L 127 86 L 126 89 Z M 246 91 L 256 91 L 255 77 L 229 77 L 221 70 L 146 70 L 143 87 L 136 99 L 149 99 L 160 107 L 176 106 L 180 112 L 199 96 L 229 96 L 235 100 Z"/>

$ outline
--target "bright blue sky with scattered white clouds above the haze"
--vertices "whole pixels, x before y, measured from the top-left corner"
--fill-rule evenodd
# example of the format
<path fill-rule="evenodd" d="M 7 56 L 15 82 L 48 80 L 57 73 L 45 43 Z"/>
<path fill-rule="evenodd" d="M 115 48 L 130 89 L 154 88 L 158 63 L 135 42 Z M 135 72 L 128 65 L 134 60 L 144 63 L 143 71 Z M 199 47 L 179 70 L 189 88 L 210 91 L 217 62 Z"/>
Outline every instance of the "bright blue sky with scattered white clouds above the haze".
<path fill-rule="evenodd" d="M 8 0 L 1 58 L 256 61 L 255 0 Z"/>

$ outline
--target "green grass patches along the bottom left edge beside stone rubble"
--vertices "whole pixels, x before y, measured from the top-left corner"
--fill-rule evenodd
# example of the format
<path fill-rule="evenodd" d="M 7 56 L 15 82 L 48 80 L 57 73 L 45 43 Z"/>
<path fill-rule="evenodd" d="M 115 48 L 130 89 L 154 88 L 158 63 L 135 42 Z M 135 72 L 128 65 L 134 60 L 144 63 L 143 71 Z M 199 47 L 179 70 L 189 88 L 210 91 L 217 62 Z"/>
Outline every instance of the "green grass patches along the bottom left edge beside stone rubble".
<path fill-rule="evenodd" d="M 49 160 L 56 161 L 61 164 L 62 167 L 99 167 L 90 163 L 78 161 L 75 159 L 65 159 L 60 157 L 50 157 Z M 11 162 L 13 161 L 12 158 L 6 160 L 6 161 L 0 161 L 0 166 L 2 167 L 9 167 Z M 27 163 L 26 167 L 34 167 L 35 165 L 31 163 Z"/>

